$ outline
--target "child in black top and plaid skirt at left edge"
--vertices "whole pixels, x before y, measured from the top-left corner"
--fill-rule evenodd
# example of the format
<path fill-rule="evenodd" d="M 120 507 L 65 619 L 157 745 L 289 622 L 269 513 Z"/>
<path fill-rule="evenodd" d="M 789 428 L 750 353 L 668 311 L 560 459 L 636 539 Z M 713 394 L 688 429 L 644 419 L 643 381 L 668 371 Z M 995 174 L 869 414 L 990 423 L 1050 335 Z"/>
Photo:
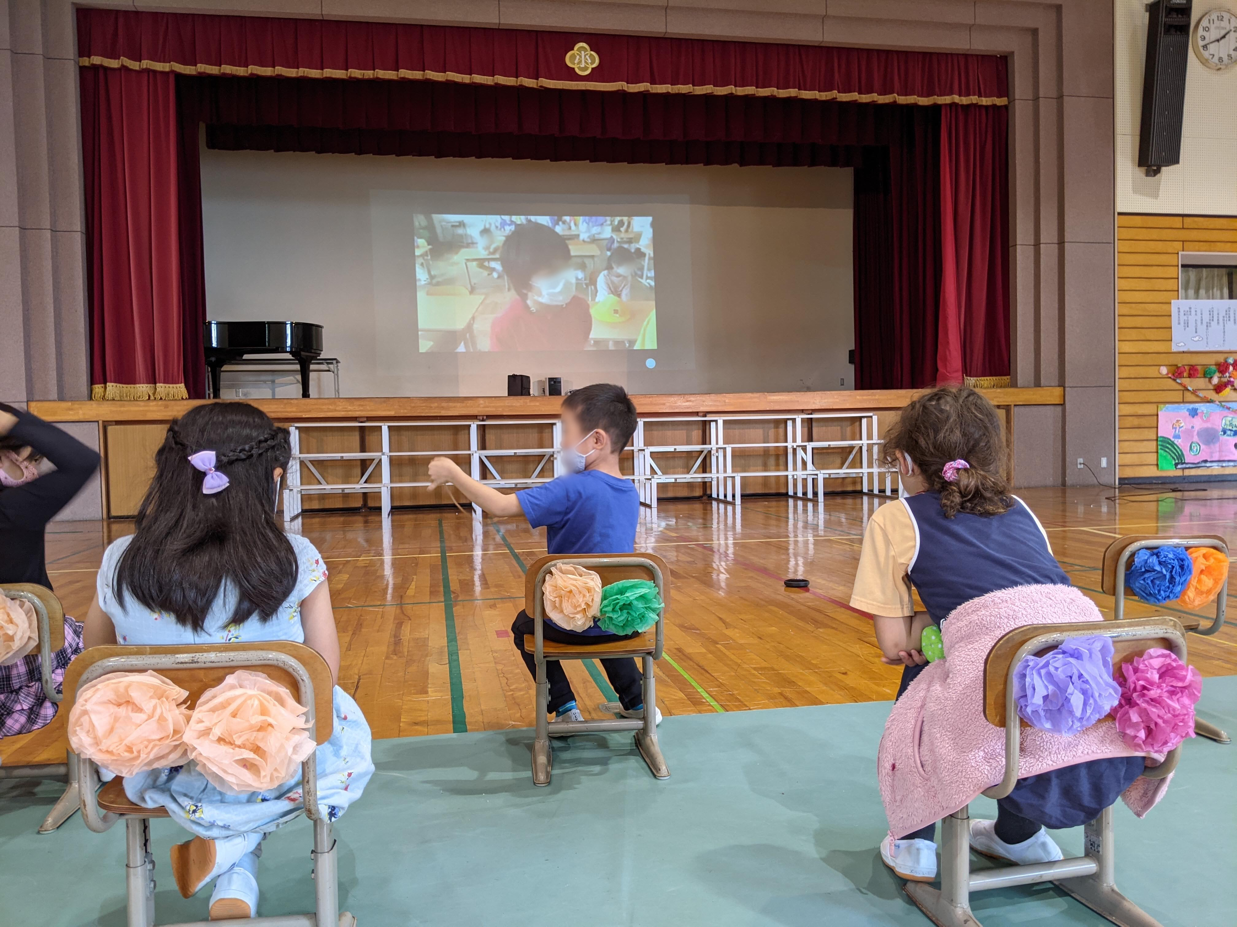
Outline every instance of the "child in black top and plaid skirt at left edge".
<path fill-rule="evenodd" d="M 47 459 L 56 470 L 40 476 L 33 462 Z M 35 582 L 47 576 L 43 531 L 47 523 L 85 486 L 99 455 L 42 419 L 0 403 L 0 585 Z M 64 646 L 52 654 L 52 680 L 82 653 L 82 625 L 64 616 Z M 38 653 L 0 665 L 0 738 L 37 730 L 56 717 L 43 692 Z"/>

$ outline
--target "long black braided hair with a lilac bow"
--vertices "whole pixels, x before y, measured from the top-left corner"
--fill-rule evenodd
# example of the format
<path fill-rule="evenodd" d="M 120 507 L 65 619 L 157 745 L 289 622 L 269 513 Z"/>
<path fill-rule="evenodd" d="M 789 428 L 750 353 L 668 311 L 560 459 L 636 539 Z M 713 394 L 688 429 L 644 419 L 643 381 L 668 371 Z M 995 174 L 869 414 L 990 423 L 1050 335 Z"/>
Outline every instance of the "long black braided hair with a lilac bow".
<path fill-rule="evenodd" d="M 203 493 L 205 475 L 187 460 L 203 450 L 228 476 L 221 492 Z M 132 595 L 194 632 L 215 630 L 205 623 L 220 595 L 235 596 L 229 623 L 273 618 L 298 574 L 275 518 L 275 470 L 291 455 L 288 430 L 247 403 L 208 403 L 172 421 L 116 570 L 120 603 Z"/>

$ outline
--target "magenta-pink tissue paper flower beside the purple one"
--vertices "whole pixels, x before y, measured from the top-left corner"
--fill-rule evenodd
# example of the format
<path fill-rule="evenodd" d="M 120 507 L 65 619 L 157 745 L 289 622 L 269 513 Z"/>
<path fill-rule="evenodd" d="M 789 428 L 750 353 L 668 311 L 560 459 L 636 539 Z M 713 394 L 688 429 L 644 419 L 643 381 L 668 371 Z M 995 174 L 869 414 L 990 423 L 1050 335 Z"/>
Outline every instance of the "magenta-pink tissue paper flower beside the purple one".
<path fill-rule="evenodd" d="M 1112 709 L 1126 747 L 1139 753 L 1168 753 L 1194 737 L 1194 705 L 1202 676 L 1176 654 L 1152 648 L 1121 666 L 1121 700 Z"/>

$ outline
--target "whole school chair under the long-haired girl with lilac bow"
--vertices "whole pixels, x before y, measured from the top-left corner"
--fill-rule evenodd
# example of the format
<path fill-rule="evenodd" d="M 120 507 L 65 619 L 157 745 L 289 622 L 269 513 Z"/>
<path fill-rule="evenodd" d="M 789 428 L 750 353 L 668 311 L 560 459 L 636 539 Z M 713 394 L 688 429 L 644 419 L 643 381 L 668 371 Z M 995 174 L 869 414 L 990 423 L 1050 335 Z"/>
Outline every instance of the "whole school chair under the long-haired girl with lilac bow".
<path fill-rule="evenodd" d="M 109 672 L 155 670 L 189 692 L 189 706 L 239 669 L 256 669 L 294 692 L 306 706 L 309 735 L 315 743 L 330 739 L 334 727 L 333 684 L 327 661 L 304 644 L 261 641 L 252 644 L 192 644 L 181 646 L 95 646 L 82 653 L 64 676 L 64 705 L 69 711 L 80 688 Z M 317 751 L 303 764 L 302 803 L 313 821 L 315 913 L 210 921 L 212 925 L 263 925 L 263 927 L 355 927 L 356 918 L 339 911 L 338 859 L 332 824 L 318 812 Z M 150 818 L 168 817 L 166 808 L 143 808 L 129 801 L 124 780 L 116 776 L 99 787 L 99 768 L 84 756 L 78 760 L 78 787 L 85 826 L 103 833 L 116 821 L 125 822 L 129 927 L 155 927 L 155 857 L 151 853 Z M 205 927 L 208 922 L 168 927 Z"/>

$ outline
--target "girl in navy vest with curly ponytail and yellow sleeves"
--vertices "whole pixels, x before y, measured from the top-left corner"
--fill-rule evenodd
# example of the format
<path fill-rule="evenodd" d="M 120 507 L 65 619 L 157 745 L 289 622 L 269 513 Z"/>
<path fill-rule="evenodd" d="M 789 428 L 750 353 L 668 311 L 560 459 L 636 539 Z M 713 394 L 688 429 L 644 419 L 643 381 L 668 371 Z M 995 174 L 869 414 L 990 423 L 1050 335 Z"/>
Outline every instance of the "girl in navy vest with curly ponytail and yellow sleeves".
<path fill-rule="evenodd" d="M 901 665 L 898 696 L 923 670 L 920 635 L 965 602 L 1035 583 L 1070 585 L 1039 519 L 1009 492 L 1001 421 L 974 389 L 940 388 L 903 409 L 884 435 L 886 460 L 908 493 L 877 509 L 863 534 L 851 606 L 872 613 L 882 661 Z M 924 609 L 915 612 L 912 587 Z M 971 822 L 971 845 L 1014 863 L 1061 850 L 1044 827 L 1077 827 L 1112 805 L 1143 759 L 1092 760 L 1021 779 L 993 821 Z M 881 844 L 904 879 L 936 876 L 936 826 Z"/>

